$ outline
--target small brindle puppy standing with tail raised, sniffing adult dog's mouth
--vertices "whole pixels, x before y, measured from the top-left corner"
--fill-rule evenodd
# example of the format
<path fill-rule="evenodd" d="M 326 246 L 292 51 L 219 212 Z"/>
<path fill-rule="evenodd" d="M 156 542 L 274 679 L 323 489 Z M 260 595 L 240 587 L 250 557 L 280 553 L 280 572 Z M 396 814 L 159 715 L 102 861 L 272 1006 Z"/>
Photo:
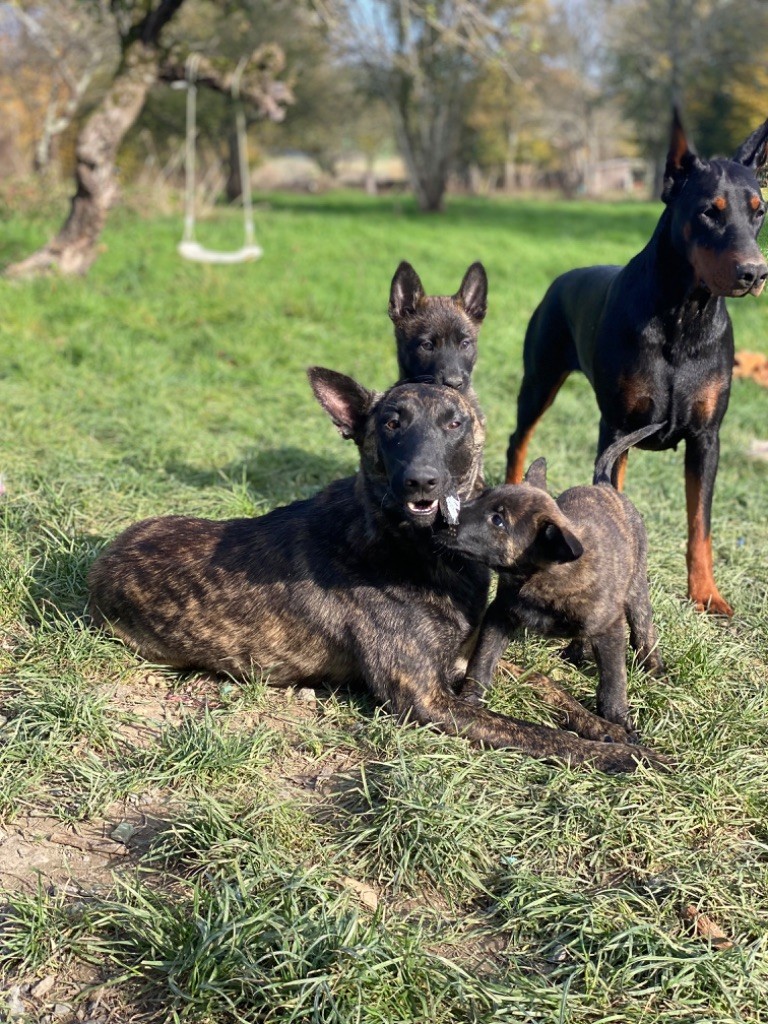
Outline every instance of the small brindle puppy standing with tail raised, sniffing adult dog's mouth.
<path fill-rule="evenodd" d="M 495 487 L 462 508 L 455 536 L 445 531 L 440 543 L 499 571 L 497 596 L 467 670 L 462 692 L 468 699 L 490 685 L 512 634 L 526 628 L 591 647 L 598 714 L 634 729 L 627 700 L 628 623 L 645 670 L 664 673 L 664 663 L 648 596 L 645 526 L 610 477 L 627 449 L 662 426 L 643 427 L 606 449 L 593 486 L 571 487 L 555 501 L 546 490 L 546 462 L 538 459 L 524 483 Z"/>

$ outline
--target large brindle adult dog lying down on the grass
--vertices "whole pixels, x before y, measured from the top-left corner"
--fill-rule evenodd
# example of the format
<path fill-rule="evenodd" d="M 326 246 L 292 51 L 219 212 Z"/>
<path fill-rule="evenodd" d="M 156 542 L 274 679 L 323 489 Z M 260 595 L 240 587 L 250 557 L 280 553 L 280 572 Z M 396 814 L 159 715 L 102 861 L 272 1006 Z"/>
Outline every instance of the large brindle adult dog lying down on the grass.
<path fill-rule="evenodd" d="M 362 680 L 394 714 L 489 746 L 606 771 L 653 760 L 456 694 L 489 573 L 436 551 L 432 526 L 440 499 L 475 486 L 477 416 L 446 387 L 407 384 L 379 395 L 333 371 L 309 376 L 359 450 L 356 476 L 254 519 L 167 516 L 129 527 L 91 569 L 95 621 L 178 668 L 262 669 L 275 684 Z"/>

